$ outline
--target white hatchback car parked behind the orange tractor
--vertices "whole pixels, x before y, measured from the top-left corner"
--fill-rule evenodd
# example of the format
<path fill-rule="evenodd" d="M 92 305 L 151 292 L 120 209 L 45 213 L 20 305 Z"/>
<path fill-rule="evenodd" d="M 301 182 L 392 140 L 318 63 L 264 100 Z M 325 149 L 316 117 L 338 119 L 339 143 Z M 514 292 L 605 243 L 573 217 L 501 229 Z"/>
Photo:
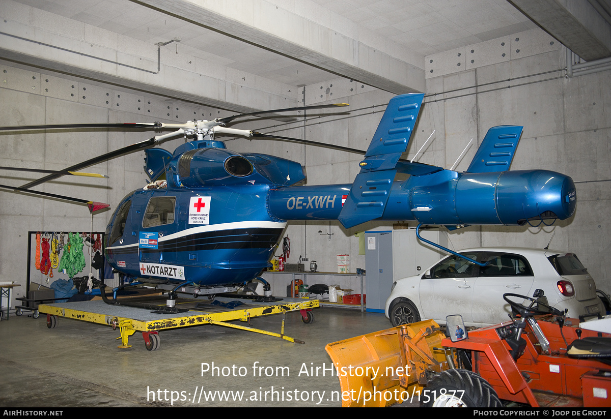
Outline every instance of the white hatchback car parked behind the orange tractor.
<path fill-rule="evenodd" d="M 384 310 L 393 326 L 430 318 L 445 324 L 445 317 L 452 314 L 463 315 L 467 326 L 500 323 L 511 313 L 503 294 L 532 297 L 535 290 L 543 290 L 549 306 L 568 309 L 569 317 L 605 314 L 594 279 L 573 253 L 527 248 L 475 248 L 459 253 L 488 264 L 479 267 L 447 256 L 424 274 L 398 279 Z"/>

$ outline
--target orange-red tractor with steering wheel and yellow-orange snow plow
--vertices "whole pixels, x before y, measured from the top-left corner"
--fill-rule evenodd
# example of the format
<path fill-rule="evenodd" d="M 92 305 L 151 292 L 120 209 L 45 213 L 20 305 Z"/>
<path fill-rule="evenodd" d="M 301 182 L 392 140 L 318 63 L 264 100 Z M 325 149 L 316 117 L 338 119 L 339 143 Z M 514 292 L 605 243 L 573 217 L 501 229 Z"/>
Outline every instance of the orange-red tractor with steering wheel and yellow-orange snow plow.
<path fill-rule="evenodd" d="M 541 298 L 503 298 L 514 318 L 494 326 L 466 332 L 456 315 L 445 333 L 428 320 L 327 345 L 342 406 L 611 407 L 611 334 Z"/>

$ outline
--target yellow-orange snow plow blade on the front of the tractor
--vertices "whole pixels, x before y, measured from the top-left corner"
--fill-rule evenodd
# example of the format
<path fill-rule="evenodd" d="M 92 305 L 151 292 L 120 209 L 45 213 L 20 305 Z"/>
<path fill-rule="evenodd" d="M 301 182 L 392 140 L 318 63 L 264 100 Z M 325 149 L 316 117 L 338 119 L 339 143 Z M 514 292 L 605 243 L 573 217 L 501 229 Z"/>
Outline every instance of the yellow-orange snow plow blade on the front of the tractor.
<path fill-rule="evenodd" d="M 426 371 L 447 369 L 433 320 L 373 332 L 329 343 L 342 388 L 342 407 L 386 407 L 420 401 Z"/>

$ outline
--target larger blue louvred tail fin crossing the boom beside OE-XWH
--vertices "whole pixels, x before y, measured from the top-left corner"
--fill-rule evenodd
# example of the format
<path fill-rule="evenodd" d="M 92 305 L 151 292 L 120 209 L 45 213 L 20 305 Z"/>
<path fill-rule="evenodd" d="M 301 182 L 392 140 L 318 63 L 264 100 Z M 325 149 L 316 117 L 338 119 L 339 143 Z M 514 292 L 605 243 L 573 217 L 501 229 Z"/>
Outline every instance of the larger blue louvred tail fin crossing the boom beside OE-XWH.
<path fill-rule="evenodd" d="M 384 213 L 397 163 L 408 148 L 423 97 L 410 93 L 390 99 L 338 217 L 344 227 L 374 220 Z"/>

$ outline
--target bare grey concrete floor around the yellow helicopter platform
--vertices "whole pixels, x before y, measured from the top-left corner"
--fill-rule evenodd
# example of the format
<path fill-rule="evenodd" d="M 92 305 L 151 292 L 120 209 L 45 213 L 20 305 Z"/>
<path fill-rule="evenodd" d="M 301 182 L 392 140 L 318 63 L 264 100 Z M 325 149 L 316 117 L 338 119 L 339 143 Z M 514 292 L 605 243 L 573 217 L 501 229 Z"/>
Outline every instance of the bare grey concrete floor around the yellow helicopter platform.
<path fill-rule="evenodd" d="M 387 329 L 390 323 L 382 313 L 354 309 L 320 307 L 314 313 L 315 322 L 308 325 L 302 323 L 299 312 L 287 313 L 285 334 L 304 340 L 304 345 L 206 325 L 163 331 L 160 348 L 152 352 L 146 350 L 137 332 L 130 338 L 132 348 L 119 349 L 118 329 L 67 318 L 59 318 L 57 328 L 48 329 L 46 315 L 38 319 L 27 313 L 11 316 L 0 322 L 0 406 L 341 406 L 330 396 L 340 392 L 338 378 L 329 373 L 300 376 L 302 366 L 329 368 L 331 359 L 324 351 L 327 343 Z M 280 332 L 281 319 L 271 315 L 252 323 Z M 257 367 L 273 367 L 267 370 L 274 371 L 272 376 L 265 376 L 265 370 L 261 370 L 263 376 L 254 376 L 255 362 Z M 221 368 L 235 365 L 235 374 L 244 376 L 202 374 L 202 363 Z M 286 372 L 276 376 L 276 367 L 288 367 L 290 376 Z M 213 392 L 244 392 L 244 399 L 205 401 L 202 396 L 192 403 L 194 393 L 199 394 L 202 387 Z M 272 387 L 279 392 L 275 400 L 269 395 L 267 401 L 261 400 Z M 178 399 L 174 403 L 172 396 Z"/>

